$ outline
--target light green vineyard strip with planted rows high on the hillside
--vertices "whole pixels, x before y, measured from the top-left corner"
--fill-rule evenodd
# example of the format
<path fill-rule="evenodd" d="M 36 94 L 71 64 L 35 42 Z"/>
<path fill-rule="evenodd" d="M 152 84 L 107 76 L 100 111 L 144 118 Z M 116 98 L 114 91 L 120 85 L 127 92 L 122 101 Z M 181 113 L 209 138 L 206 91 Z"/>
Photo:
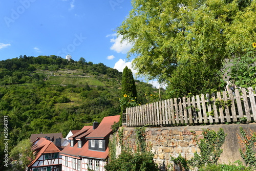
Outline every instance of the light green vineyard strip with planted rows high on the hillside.
<path fill-rule="evenodd" d="M 92 77 L 81 77 L 81 76 L 49 76 L 47 79 L 51 85 L 75 85 L 83 86 L 86 83 L 89 86 L 105 86 L 101 81 Z"/>

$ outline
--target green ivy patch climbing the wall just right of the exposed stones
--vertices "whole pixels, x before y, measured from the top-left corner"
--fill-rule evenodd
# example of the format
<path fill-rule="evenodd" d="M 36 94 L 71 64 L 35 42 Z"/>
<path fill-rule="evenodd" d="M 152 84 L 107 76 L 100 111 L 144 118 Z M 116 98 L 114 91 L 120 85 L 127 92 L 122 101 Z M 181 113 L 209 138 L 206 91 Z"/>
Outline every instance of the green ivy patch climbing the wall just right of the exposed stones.
<path fill-rule="evenodd" d="M 217 133 L 213 130 L 203 130 L 204 138 L 200 140 L 200 155 L 196 152 L 195 157 L 189 161 L 191 166 L 202 167 L 208 164 L 216 164 L 223 149 L 220 149 L 226 135 L 223 129 Z"/>

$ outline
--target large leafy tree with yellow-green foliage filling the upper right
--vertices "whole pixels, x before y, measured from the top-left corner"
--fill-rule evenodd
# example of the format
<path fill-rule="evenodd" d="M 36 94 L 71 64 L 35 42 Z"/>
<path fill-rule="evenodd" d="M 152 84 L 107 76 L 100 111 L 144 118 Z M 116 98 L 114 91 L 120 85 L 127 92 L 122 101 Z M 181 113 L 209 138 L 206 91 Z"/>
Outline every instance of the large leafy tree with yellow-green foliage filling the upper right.
<path fill-rule="evenodd" d="M 168 82 L 188 62 L 220 69 L 255 41 L 255 1 L 133 0 L 132 6 L 117 32 L 133 43 L 128 57 L 136 56 L 135 69 L 149 79 Z"/>

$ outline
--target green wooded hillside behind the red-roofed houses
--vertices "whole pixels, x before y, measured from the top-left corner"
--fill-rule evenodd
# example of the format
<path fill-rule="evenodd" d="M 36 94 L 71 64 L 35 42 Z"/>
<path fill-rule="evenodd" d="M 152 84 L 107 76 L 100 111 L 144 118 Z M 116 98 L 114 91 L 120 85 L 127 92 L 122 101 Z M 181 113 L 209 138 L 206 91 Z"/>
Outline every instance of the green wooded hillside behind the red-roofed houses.
<path fill-rule="evenodd" d="M 51 77 L 71 81 L 53 83 Z M 62 133 L 66 137 L 70 130 L 100 122 L 104 116 L 119 115 L 121 79 L 122 72 L 83 58 L 68 61 L 54 55 L 24 55 L 0 61 L 0 113 L 2 123 L 8 116 L 9 151 L 31 134 Z M 159 90 L 152 84 L 139 80 L 135 84 L 138 103 L 154 100 L 146 95 L 158 98 Z M 161 98 L 166 98 L 165 90 L 160 92 Z M 4 130 L 4 124 L 0 129 Z M 1 133 L 1 156 L 4 139 Z"/>

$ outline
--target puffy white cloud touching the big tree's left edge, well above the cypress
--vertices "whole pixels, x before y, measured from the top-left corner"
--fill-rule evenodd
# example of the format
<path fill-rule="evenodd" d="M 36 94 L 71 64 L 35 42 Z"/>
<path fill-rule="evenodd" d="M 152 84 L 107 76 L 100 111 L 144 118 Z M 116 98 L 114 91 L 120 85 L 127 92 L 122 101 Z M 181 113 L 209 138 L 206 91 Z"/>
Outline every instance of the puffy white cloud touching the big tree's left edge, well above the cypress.
<path fill-rule="evenodd" d="M 107 35 L 107 37 L 109 36 L 115 36 L 116 34 L 110 34 Z M 117 53 L 127 53 L 128 51 L 130 51 L 130 49 L 133 47 L 133 45 L 128 42 L 127 40 L 122 40 L 122 35 L 116 37 L 116 38 L 112 38 L 110 39 L 110 42 L 114 43 L 110 49 L 113 51 L 116 51 Z"/>

